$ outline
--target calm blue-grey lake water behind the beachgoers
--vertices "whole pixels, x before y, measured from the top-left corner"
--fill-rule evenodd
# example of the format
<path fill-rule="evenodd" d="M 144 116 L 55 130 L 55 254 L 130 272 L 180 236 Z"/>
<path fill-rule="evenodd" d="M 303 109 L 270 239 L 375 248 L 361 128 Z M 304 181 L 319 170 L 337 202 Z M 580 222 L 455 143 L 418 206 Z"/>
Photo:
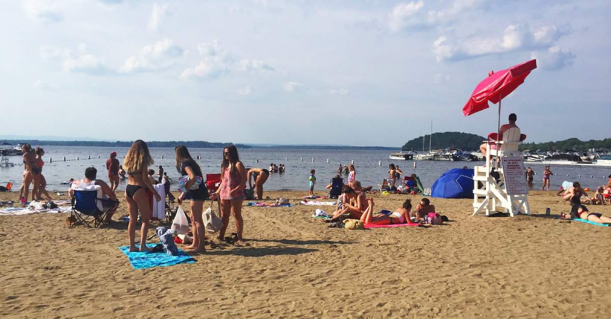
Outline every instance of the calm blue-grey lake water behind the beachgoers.
<path fill-rule="evenodd" d="M 45 167 L 43 174 L 47 181 L 48 190 L 65 190 L 65 185 L 61 182 L 73 177 L 79 179 L 84 177 L 85 168 L 93 166 L 98 169 L 98 178 L 108 181 L 106 171 L 106 159 L 112 151 L 119 155 L 120 162 L 123 162 L 128 148 L 106 148 L 106 147 L 84 147 L 84 146 L 45 146 Z M 155 165 L 163 165 L 164 170 L 170 178 L 176 181 L 179 177 L 175 169 L 174 149 L 172 148 L 151 148 L 151 155 L 155 159 Z M 222 149 L 191 148 L 191 156 L 196 158 L 202 173 L 220 173 Z M 329 179 L 335 175 L 338 163 L 349 164 L 354 160 L 356 166 L 357 180 L 364 186 L 380 183 L 387 176 L 389 163 L 399 165 L 404 174 L 415 173 L 420 177 L 424 187 L 431 187 L 433 182 L 447 170 L 451 168 L 462 168 L 463 166 L 473 167 L 481 165 L 482 162 L 450 162 L 450 161 L 416 161 L 417 167 L 413 168 L 414 161 L 389 160 L 390 151 L 347 151 L 347 150 L 327 150 L 327 149 L 239 149 L 240 159 L 247 167 L 268 168 L 269 163 L 284 163 L 286 173 L 271 174 L 265 182 L 266 190 L 304 190 L 308 188 L 308 177 L 310 169 L 316 170 L 316 190 L 324 190 Z M 100 159 L 98 159 L 100 156 Z M 161 157 L 164 157 L 163 159 Z M 62 159 L 66 157 L 67 161 Z M 79 157 L 79 160 L 76 158 Z M 91 159 L 88 159 L 91 157 Z M 314 162 L 312 162 L 312 157 Z M 303 158 L 301 161 L 300 159 Z M 15 181 L 15 188 L 21 186 L 21 175 L 23 174 L 23 164 L 20 156 L 9 157 L 10 162 L 18 164 L 12 168 L 0 168 L 0 184 L 5 185 L 7 181 Z M 50 163 L 49 159 L 53 159 Z M 329 159 L 329 163 L 327 163 Z M 258 162 L 257 162 L 258 160 Z M 381 167 L 378 162 L 382 161 Z M 525 167 L 527 167 L 526 165 Z M 541 188 L 541 174 L 543 165 L 531 165 L 535 170 L 535 182 L 533 188 Z M 152 167 L 156 171 L 156 166 Z M 572 167 L 558 165 L 551 167 L 556 176 L 552 176 L 552 188 L 558 189 L 563 181 L 579 181 L 590 188 L 596 185 L 606 184 L 607 176 L 611 169 L 604 167 Z M 566 175 L 569 175 L 568 177 Z M 581 175 L 582 177 L 579 177 Z M 593 176 L 593 177 L 590 177 Z M 346 178 L 346 176 L 344 176 Z M 122 181 L 119 189 L 125 189 L 126 181 Z M 13 188 L 13 189 L 15 189 Z"/>

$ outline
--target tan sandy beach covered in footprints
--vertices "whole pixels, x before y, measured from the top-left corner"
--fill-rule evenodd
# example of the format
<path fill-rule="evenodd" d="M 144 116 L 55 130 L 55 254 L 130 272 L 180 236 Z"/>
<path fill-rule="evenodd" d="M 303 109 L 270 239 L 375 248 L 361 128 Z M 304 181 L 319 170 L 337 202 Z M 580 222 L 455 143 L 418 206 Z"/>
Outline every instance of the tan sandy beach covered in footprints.
<path fill-rule="evenodd" d="M 472 217 L 472 199 L 432 198 L 450 222 L 364 231 L 327 228 L 313 206 L 244 207 L 246 246 L 144 270 L 118 249 L 125 222 L 71 229 L 67 213 L 1 216 L 0 315 L 609 318 L 611 229 L 557 219 L 569 206 L 554 193 L 530 192 L 533 215 L 514 218 Z M 306 193 L 265 195 L 296 204 Z M 421 198 L 372 196 L 389 210 Z M 125 213 L 123 201 L 115 216 Z"/>

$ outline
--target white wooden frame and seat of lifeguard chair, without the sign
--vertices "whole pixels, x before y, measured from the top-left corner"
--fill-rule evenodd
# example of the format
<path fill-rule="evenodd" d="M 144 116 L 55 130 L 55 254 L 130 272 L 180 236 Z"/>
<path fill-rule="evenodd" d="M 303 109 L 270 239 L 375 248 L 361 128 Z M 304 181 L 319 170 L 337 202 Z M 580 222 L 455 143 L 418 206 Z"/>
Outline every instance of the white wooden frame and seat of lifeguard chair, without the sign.
<path fill-rule="evenodd" d="M 511 217 L 518 213 L 530 215 L 530 207 L 528 202 L 528 193 L 519 195 L 510 195 L 505 188 L 505 176 L 503 168 L 496 167 L 490 162 L 491 152 L 496 152 L 497 161 L 500 161 L 502 156 L 519 156 L 518 145 L 520 141 L 520 129 L 511 127 L 503 133 L 503 140 L 496 141 L 496 151 L 490 149 L 489 141 L 486 143 L 486 167 L 474 167 L 474 189 L 473 189 L 473 215 L 489 216 L 490 212 L 496 212 L 497 207 L 502 207 Z M 498 162 L 497 162 L 498 163 Z M 492 174 L 492 169 L 498 173 L 497 177 Z"/>

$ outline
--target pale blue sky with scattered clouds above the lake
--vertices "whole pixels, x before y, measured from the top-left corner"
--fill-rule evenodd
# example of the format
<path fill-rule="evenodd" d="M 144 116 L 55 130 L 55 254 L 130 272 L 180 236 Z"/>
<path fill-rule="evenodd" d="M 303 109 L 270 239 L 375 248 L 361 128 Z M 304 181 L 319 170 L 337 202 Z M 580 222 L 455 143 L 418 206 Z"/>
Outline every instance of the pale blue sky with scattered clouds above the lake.
<path fill-rule="evenodd" d="M 536 58 L 502 123 L 516 113 L 527 142 L 611 137 L 609 1 L 0 5 L 4 134 L 398 147 L 432 121 L 485 136 L 497 105 L 464 116 L 470 93 Z"/>

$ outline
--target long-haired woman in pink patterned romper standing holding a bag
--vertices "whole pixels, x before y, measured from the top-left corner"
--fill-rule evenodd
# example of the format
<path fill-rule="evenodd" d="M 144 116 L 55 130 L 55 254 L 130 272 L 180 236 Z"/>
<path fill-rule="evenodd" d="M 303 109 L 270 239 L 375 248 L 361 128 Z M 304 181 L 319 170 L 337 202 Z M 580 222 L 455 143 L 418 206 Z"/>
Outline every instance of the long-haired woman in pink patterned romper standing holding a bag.
<path fill-rule="evenodd" d="M 219 231 L 219 240 L 224 240 L 227 225 L 229 225 L 229 216 L 233 215 L 235 219 L 235 227 L 237 229 L 236 244 L 243 245 L 242 234 L 244 231 L 244 220 L 242 218 L 242 203 L 244 196 L 244 188 L 246 188 L 246 168 L 240 162 L 238 149 L 235 145 L 227 146 L 223 149 L 223 162 L 221 164 L 221 185 L 219 189 L 212 194 L 212 199 L 221 199 L 221 218 L 223 220 L 223 228 Z"/>

